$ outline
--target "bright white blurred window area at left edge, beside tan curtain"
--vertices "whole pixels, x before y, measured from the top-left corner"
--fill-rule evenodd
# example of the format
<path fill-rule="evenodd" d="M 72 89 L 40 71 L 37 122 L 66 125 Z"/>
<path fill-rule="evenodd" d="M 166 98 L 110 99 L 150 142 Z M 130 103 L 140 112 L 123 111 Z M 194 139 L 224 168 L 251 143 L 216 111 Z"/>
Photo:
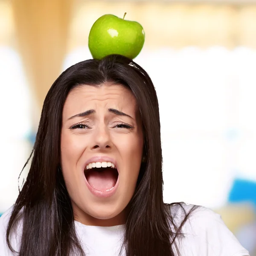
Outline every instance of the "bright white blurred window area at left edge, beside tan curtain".
<path fill-rule="evenodd" d="M 32 128 L 32 102 L 20 56 L 15 50 L 1 46 L 0 56 L 0 213 L 3 213 L 16 201 L 18 176 L 32 150 L 26 140 Z M 27 169 L 21 183 L 26 173 Z"/>

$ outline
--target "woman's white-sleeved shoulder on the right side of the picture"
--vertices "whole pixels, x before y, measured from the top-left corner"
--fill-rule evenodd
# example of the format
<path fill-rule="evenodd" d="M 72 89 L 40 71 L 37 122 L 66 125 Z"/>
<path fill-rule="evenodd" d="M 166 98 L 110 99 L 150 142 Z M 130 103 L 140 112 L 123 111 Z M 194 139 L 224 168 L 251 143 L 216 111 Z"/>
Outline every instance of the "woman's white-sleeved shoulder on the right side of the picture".
<path fill-rule="evenodd" d="M 171 205 L 170 212 L 177 225 L 189 214 L 182 227 L 182 255 L 191 255 L 189 251 L 192 250 L 198 256 L 249 256 L 224 224 L 221 215 L 211 209 L 180 203 Z"/>

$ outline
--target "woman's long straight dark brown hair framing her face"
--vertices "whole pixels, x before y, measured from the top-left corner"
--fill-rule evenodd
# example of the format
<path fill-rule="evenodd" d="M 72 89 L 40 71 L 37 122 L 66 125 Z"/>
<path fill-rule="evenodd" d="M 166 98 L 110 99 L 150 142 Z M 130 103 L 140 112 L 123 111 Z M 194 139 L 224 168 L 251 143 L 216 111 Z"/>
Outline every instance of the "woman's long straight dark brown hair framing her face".
<path fill-rule="evenodd" d="M 160 117 L 154 85 L 134 61 L 121 55 L 109 55 L 68 68 L 47 93 L 29 157 L 32 157 L 29 174 L 7 227 L 7 243 L 14 251 L 9 236 L 22 212 L 19 256 L 85 255 L 76 236 L 71 200 L 59 168 L 62 110 L 68 93 L 76 86 L 100 85 L 107 81 L 123 84 L 132 91 L 145 137 L 146 163 L 141 166 L 125 225 L 126 256 L 175 256 L 175 252 L 178 253 L 176 241 L 182 236 L 181 227 L 189 213 L 177 226 L 170 206 L 163 203 Z"/>

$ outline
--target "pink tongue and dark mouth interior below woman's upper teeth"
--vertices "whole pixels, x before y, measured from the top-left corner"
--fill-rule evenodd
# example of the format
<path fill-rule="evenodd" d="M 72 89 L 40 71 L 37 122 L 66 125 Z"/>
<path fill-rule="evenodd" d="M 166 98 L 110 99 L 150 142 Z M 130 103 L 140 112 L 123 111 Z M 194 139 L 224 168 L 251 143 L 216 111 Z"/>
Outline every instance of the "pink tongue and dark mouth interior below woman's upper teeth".
<path fill-rule="evenodd" d="M 86 175 L 90 186 L 99 191 L 107 191 L 116 185 L 116 175 L 113 169 L 104 168 L 102 171 L 90 171 Z"/>

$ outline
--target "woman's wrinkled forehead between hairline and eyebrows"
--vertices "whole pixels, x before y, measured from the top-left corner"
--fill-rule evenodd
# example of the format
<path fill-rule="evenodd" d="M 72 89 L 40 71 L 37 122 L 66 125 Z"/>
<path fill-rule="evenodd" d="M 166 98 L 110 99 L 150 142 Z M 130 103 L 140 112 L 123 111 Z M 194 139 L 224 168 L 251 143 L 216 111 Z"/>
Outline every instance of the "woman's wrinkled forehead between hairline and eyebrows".
<path fill-rule="evenodd" d="M 100 86 L 81 85 L 71 90 L 63 108 L 63 115 L 100 108 L 116 108 L 119 111 L 135 114 L 136 99 L 122 84 L 103 84 Z"/>

